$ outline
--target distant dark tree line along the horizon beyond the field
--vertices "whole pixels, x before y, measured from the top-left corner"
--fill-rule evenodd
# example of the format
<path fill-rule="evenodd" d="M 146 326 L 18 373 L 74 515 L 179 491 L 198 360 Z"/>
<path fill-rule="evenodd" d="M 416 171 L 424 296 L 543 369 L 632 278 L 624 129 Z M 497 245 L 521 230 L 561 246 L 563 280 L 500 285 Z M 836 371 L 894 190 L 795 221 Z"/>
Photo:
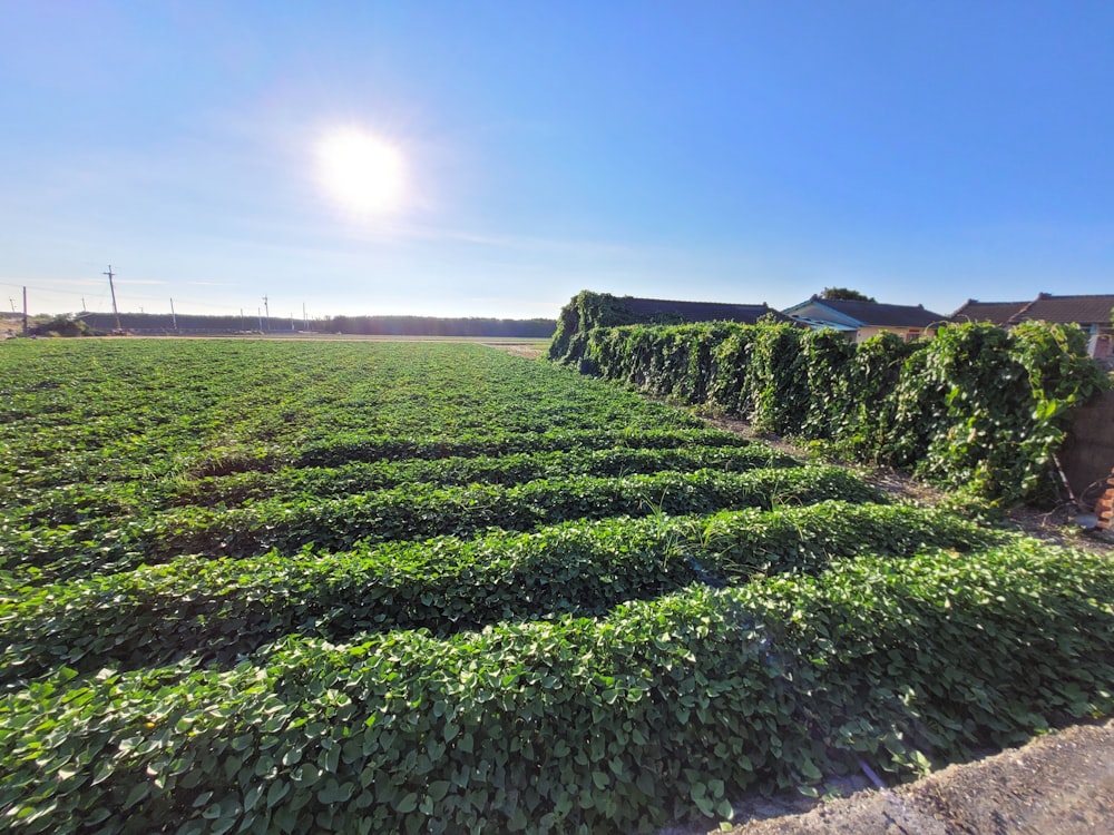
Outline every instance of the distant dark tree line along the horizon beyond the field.
<path fill-rule="evenodd" d="M 65 321 L 75 327 L 62 333 Z M 78 324 L 80 323 L 80 324 Z M 198 316 L 169 313 L 121 313 L 120 327 L 138 334 L 229 334 L 264 331 L 267 333 L 291 333 L 315 331 L 319 333 L 359 334 L 363 336 L 514 336 L 549 338 L 557 330 L 557 321 L 550 318 L 483 318 L 436 316 L 330 316 L 310 320 L 260 318 L 252 316 Z M 79 333 L 105 334 L 116 328 L 116 317 L 111 313 L 82 313 L 74 317 L 56 317 L 50 331 L 59 335 Z"/>

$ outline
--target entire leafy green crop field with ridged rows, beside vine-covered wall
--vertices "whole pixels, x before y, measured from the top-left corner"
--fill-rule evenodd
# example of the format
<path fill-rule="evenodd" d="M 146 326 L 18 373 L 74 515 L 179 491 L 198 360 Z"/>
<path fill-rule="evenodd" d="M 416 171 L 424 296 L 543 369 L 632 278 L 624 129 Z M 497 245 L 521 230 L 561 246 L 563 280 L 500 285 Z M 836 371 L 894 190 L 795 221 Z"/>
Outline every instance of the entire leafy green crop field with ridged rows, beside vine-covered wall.
<path fill-rule="evenodd" d="M 18 833 L 653 832 L 1114 710 L 1103 558 L 440 342 L 0 345 Z"/>

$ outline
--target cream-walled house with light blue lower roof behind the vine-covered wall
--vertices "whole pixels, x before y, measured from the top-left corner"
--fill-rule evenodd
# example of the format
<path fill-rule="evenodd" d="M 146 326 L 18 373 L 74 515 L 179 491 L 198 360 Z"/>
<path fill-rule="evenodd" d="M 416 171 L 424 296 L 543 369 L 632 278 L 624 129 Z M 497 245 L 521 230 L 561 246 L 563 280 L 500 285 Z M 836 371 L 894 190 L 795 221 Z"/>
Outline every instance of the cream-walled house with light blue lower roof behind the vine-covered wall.
<path fill-rule="evenodd" d="M 893 333 L 906 342 L 931 338 L 948 317 L 926 311 L 924 305 L 881 304 L 812 296 L 782 311 L 802 325 L 819 330 L 834 327 L 863 342 L 881 333 Z"/>

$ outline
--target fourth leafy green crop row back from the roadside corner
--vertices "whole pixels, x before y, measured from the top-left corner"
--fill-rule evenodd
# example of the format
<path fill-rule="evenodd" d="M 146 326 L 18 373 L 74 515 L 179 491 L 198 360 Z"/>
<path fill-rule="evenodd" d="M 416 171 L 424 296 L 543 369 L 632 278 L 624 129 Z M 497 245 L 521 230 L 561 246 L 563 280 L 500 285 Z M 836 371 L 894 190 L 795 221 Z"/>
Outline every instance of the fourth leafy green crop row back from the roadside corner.
<path fill-rule="evenodd" d="M 335 446 L 331 453 L 339 452 Z M 416 483 L 509 485 L 563 475 L 692 472 L 705 468 L 742 472 L 797 464 L 790 455 L 766 444 L 726 432 L 693 430 L 531 433 L 463 441 L 375 439 L 360 442 L 359 453 L 369 460 L 276 470 L 278 462 L 241 456 L 236 461 L 211 460 L 194 468 L 195 473 L 228 473 L 223 475 L 168 479 L 154 485 L 82 483 L 33 494 L 28 491 L 26 503 L 12 510 L 9 522 L 78 524 L 96 517 L 135 515 L 170 505 L 235 505 L 282 497 L 332 498 Z M 345 461 L 339 454 L 331 454 L 330 459 Z"/>

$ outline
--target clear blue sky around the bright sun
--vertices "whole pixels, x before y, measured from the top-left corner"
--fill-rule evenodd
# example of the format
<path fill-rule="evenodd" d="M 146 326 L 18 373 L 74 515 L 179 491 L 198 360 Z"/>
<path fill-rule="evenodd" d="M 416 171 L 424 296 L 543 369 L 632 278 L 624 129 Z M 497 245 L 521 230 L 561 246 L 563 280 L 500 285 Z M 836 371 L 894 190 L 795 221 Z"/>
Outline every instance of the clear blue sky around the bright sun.
<path fill-rule="evenodd" d="M 1112 2 L 0 0 L 31 312 L 556 316 L 580 289 L 950 313 L 1114 289 Z M 321 180 L 343 128 L 391 210 Z"/>

